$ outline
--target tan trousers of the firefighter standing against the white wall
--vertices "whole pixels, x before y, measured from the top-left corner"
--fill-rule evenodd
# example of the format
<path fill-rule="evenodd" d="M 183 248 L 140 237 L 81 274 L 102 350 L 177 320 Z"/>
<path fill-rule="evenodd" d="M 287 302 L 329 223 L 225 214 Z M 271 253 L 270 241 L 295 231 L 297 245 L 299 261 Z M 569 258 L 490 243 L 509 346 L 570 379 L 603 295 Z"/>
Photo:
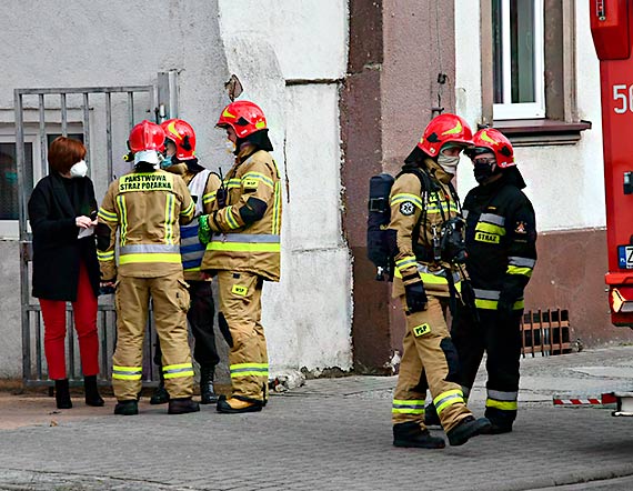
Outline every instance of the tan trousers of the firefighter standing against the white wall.
<path fill-rule="evenodd" d="M 261 324 L 263 279 L 249 272 L 219 271 L 220 329 L 228 328 L 232 397 L 268 399 L 268 350 Z M 223 324 L 223 325 L 222 325 Z"/>

